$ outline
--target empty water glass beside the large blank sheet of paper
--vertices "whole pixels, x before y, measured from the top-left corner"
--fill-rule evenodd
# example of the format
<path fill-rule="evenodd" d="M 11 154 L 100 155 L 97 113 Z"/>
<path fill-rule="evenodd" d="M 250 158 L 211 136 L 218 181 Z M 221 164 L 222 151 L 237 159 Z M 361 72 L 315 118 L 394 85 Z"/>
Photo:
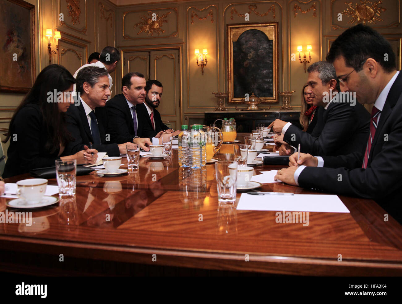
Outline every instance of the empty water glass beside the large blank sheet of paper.
<path fill-rule="evenodd" d="M 236 201 L 237 162 L 222 160 L 215 162 L 216 187 L 220 203 Z"/>

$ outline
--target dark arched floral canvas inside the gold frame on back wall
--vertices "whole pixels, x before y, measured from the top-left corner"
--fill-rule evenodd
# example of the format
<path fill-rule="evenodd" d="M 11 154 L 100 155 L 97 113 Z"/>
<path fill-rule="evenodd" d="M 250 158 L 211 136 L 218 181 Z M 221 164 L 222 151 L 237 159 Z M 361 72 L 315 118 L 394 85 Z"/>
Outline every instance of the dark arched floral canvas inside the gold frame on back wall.
<path fill-rule="evenodd" d="M 260 30 L 246 30 L 233 42 L 234 98 L 273 97 L 272 50 L 273 41 Z"/>

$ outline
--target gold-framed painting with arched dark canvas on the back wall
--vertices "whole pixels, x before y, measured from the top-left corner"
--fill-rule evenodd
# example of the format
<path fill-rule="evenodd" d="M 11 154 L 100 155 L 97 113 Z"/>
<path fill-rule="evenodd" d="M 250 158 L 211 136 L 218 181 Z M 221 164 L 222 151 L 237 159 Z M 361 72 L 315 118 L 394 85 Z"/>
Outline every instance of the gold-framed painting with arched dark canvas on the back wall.
<path fill-rule="evenodd" d="M 278 98 L 278 22 L 228 24 L 229 103 L 254 93 L 263 103 Z"/>

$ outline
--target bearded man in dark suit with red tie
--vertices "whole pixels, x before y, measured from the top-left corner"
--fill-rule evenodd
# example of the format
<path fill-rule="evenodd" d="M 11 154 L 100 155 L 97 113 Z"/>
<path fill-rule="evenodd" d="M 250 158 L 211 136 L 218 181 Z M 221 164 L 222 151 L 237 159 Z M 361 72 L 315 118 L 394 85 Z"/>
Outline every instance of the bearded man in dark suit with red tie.
<path fill-rule="evenodd" d="M 168 131 L 176 136 L 180 130 L 174 131 L 162 122 L 159 111 L 160 100 L 162 99 L 163 87 L 158 80 L 148 80 L 145 87 L 146 95 L 144 103 L 137 105 L 137 114 L 141 120 L 141 124 L 148 124 L 151 130 L 154 130 L 154 136 L 160 131 Z"/>

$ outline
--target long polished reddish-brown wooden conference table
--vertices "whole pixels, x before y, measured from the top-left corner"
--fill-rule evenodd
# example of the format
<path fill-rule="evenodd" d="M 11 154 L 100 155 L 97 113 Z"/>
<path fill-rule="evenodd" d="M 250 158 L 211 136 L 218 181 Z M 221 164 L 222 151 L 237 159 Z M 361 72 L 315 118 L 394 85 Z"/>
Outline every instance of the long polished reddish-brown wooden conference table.
<path fill-rule="evenodd" d="M 231 150 L 224 144 L 215 158 L 232 160 Z M 350 213 L 310 212 L 308 226 L 277 223 L 275 211 L 236 210 L 240 192 L 235 204 L 219 205 L 215 165 L 207 164 L 189 182 L 177 152 L 161 160 L 141 157 L 138 170 L 121 176 L 77 176 L 76 195 L 29 210 L 32 226 L 1 223 L 0 272 L 402 275 L 402 226 L 392 217 L 384 221 L 386 212 L 374 201 L 339 195 Z M 123 164 L 127 168 L 125 158 Z M 254 174 L 282 167 L 255 166 Z M 29 174 L 5 182 L 24 178 Z M 323 194 L 282 182 L 258 190 Z M 8 200 L 0 199 L 0 211 L 25 211 L 6 207 Z"/>

